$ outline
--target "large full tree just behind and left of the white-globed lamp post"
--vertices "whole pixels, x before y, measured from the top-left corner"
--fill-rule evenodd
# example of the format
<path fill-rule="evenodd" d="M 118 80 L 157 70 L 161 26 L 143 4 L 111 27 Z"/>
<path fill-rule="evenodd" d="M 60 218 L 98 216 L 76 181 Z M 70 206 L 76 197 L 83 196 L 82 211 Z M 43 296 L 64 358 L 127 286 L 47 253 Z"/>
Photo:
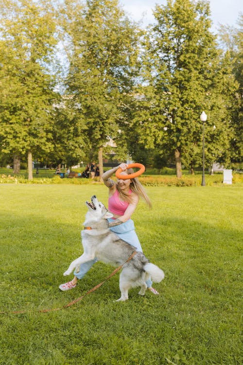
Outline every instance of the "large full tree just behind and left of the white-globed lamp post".
<path fill-rule="evenodd" d="M 144 42 L 145 82 L 140 89 L 144 97 L 135 119 L 145 146 L 160 147 L 163 155 L 174 152 L 176 175 L 181 177 L 181 163 L 193 171 L 202 161 L 203 110 L 208 114 L 207 159 L 213 158 L 208 146 L 217 146 L 222 154 L 228 144 L 229 121 L 221 94 L 226 82 L 210 33 L 208 1 L 168 0 L 165 6 L 156 5 L 154 15 L 156 23 Z"/>

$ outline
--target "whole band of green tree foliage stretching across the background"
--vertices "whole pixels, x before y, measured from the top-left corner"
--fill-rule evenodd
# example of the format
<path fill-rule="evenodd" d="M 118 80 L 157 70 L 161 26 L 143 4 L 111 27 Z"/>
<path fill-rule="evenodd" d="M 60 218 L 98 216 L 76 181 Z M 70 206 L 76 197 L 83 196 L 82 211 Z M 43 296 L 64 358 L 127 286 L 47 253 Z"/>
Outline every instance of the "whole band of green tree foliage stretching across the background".
<path fill-rule="evenodd" d="M 221 51 L 208 1 L 168 0 L 154 15 L 141 31 L 118 0 L 0 0 L 0 161 L 115 152 L 193 171 L 205 110 L 206 165 L 242 168 L 242 17 L 221 27 Z"/>

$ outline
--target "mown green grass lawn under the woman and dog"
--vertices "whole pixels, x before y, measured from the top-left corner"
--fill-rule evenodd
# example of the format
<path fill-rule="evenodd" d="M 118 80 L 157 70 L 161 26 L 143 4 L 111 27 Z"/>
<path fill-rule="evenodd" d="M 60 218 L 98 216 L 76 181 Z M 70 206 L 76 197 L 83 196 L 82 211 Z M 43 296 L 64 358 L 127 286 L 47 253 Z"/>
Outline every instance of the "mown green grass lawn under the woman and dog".
<path fill-rule="evenodd" d="M 97 263 L 69 292 L 58 289 L 82 253 L 85 201 L 107 188 L 0 184 L 0 364 L 240 365 L 242 198 L 239 186 L 147 187 L 133 216 L 145 255 L 165 272 L 159 296 L 120 297 L 119 274 Z M 69 278 L 69 277 L 68 277 Z M 72 276 L 70 275 L 70 278 Z"/>

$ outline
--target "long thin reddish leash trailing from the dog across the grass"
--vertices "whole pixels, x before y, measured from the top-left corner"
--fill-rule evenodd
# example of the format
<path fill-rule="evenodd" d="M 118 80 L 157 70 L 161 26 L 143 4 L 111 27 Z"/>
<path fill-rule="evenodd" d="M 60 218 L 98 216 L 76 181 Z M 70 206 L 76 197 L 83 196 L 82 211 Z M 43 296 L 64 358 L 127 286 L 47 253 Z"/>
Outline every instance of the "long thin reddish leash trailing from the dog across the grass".
<path fill-rule="evenodd" d="M 68 307 L 71 307 L 73 304 L 78 303 L 81 299 L 83 299 L 86 295 L 88 295 L 91 292 L 94 292 L 96 289 L 100 288 L 107 280 L 109 280 L 112 276 L 114 276 L 119 270 L 121 270 L 122 266 L 125 265 L 128 261 L 130 261 L 133 256 L 135 256 L 137 254 L 137 251 L 133 251 L 132 255 L 130 257 L 128 257 L 128 259 L 122 264 L 120 265 L 118 268 L 116 268 L 113 273 L 111 273 L 109 276 L 106 277 L 106 279 L 104 279 L 104 281 L 102 281 L 100 284 L 97 284 L 95 287 L 93 287 L 92 289 L 90 289 L 89 291 L 87 291 L 84 295 L 80 296 L 77 299 L 74 299 L 72 302 L 66 304 L 63 307 L 60 308 L 52 308 L 52 309 L 41 309 L 41 310 L 37 310 L 38 313 L 47 313 L 47 312 L 53 312 L 56 310 L 62 310 Z M 16 311 L 0 311 L 0 314 L 22 314 L 22 313 L 27 313 L 28 310 L 16 310 Z"/>

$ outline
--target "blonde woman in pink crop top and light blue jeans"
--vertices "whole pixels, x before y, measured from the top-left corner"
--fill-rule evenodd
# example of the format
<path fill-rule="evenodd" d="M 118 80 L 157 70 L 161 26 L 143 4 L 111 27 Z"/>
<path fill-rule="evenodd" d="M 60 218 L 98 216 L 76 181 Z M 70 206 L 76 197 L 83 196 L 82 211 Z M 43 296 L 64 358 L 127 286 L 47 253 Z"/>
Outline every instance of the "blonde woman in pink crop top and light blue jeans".
<path fill-rule="evenodd" d="M 104 172 L 102 175 L 105 186 L 109 188 L 108 210 L 113 214 L 113 218 L 108 219 L 109 228 L 125 242 L 135 246 L 138 251 L 142 252 L 131 216 L 138 205 L 139 197 L 141 197 L 150 208 L 151 201 L 137 178 L 126 180 L 117 179 L 117 182 L 111 179 L 111 176 L 119 167 L 122 170 L 121 175 L 133 174 L 133 169 L 127 170 L 127 166 L 127 164 L 120 164 L 119 166 Z M 97 262 L 96 258 L 82 264 L 79 273 L 74 272 L 74 278 L 68 283 L 61 284 L 59 288 L 62 291 L 75 288 L 78 280 L 87 273 L 95 262 Z M 146 284 L 151 292 L 159 294 L 152 288 L 151 280 L 148 280 Z"/>

